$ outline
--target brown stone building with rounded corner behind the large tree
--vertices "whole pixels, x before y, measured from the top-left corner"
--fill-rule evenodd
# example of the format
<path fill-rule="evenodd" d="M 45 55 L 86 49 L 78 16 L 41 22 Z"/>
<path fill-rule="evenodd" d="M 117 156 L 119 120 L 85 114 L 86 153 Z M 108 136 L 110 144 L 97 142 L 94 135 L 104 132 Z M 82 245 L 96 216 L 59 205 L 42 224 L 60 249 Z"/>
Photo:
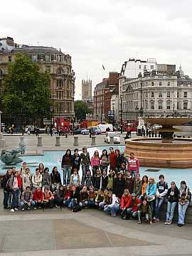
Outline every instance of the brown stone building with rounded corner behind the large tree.
<path fill-rule="evenodd" d="M 0 41 L 1 43 L 1 41 Z M 14 62 L 16 53 L 28 55 L 39 65 L 42 73 L 50 73 L 51 102 L 53 117 L 74 117 L 75 72 L 72 70 L 71 57 L 53 47 L 19 46 L 10 49 L 0 48 L 0 91 L 4 90 L 4 77 L 8 63 Z"/>

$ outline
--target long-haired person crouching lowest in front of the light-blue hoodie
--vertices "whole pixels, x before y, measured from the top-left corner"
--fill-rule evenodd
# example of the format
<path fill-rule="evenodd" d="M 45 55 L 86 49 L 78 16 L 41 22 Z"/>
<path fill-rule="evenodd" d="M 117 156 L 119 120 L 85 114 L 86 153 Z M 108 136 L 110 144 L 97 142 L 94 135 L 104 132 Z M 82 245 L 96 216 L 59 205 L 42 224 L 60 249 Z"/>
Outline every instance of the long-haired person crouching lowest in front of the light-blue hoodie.
<path fill-rule="evenodd" d="M 151 206 L 149 206 L 149 203 L 146 201 L 146 198 L 144 198 L 144 201 L 142 201 L 142 204 L 139 207 L 138 213 L 138 224 L 142 224 L 142 220 L 149 222 L 150 225 L 152 225 L 152 212 L 151 212 Z"/>

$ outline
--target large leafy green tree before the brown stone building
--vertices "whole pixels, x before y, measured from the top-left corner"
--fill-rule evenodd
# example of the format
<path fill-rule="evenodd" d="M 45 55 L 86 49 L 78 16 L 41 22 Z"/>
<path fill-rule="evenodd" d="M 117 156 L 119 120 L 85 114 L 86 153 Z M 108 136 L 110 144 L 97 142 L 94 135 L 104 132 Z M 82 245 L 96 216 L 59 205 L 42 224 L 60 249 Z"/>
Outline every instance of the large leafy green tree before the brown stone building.
<path fill-rule="evenodd" d="M 16 55 L 9 64 L 2 97 L 4 116 L 10 119 L 42 119 L 50 117 L 48 73 L 41 73 L 26 55 Z"/>

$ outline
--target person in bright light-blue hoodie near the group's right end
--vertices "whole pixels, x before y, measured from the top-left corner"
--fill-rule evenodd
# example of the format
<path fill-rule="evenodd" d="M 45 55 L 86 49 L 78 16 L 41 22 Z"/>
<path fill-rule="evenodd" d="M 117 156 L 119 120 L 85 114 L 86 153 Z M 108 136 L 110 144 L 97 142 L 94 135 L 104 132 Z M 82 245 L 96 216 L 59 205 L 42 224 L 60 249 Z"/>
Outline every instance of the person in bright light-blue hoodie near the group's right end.
<path fill-rule="evenodd" d="M 146 187 L 146 201 L 149 203 L 151 207 L 152 217 L 154 217 L 155 210 L 155 197 L 156 196 L 156 183 L 154 177 L 149 178 L 149 184 Z"/>

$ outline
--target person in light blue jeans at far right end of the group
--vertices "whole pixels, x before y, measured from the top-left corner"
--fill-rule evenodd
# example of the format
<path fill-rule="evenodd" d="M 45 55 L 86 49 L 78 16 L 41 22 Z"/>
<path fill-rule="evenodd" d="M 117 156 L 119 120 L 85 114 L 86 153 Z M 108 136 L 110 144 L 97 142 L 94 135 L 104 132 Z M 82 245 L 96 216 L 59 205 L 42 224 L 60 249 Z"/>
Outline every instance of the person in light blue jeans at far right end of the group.
<path fill-rule="evenodd" d="M 178 227 L 185 225 L 186 209 L 191 201 L 191 192 L 189 191 L 186 181 L 181 181 L 181 188 L 178 196 Z"/>

